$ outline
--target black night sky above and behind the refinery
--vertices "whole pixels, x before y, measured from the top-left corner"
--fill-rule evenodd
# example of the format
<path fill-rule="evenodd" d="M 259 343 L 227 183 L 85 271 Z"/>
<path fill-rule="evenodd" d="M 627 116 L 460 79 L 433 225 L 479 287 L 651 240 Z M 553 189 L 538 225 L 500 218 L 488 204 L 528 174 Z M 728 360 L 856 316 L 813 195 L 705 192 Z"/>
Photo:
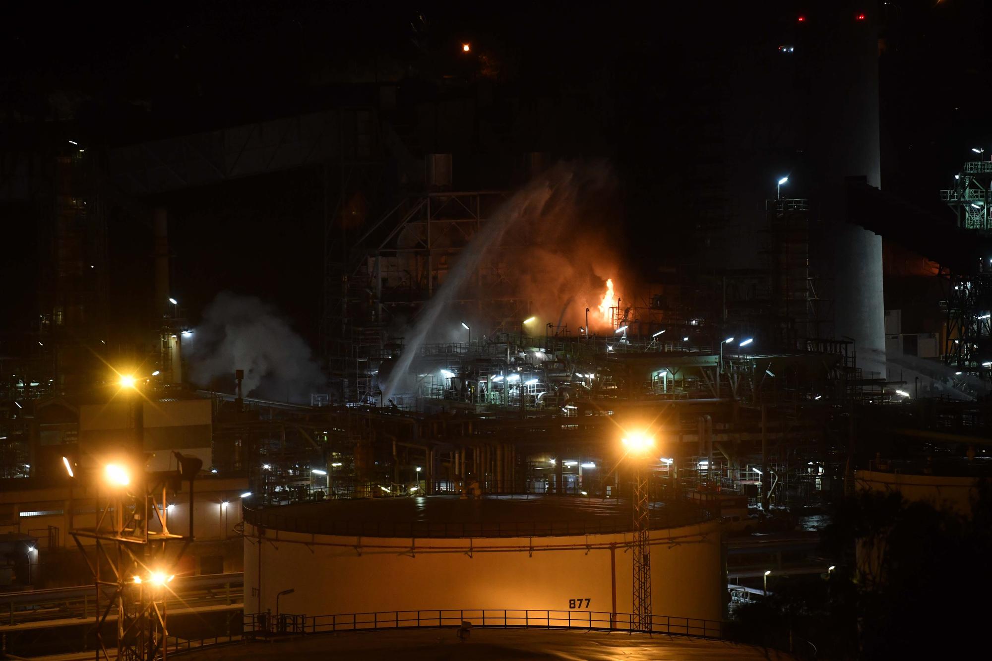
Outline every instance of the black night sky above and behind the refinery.
<path fill-rule="evenodd" d="M 647 4 L 22 3 L 0 21 L 4 135 L 29 133 L 7 121 L 26 116 L 71 117 L 103 145 L 280 117 L 332 104 L 341 83 L 471 73 L 458 59 L 470 42 L 517 97 L 581 109 L 582 128 L 556 151 L 611 159 L 627 239 L 653 245 L 666 237 L 651 218 L 679 207 L 679 178 L 701 158 L 700 99 L 739 70 L 739 45 L 786 43 L 798 16 L 814 22 L 838 3 Z M 865 6 L 885 46 L 883 185 L 938 206 L 968 148 L 992 151 L 988 3 Z M 314 173 L 297 171 L 143 201 L 173 214 L 176 287 L 193 315 L 221 289 L 253 293 L 313 340 L 321 199 Z"/>

